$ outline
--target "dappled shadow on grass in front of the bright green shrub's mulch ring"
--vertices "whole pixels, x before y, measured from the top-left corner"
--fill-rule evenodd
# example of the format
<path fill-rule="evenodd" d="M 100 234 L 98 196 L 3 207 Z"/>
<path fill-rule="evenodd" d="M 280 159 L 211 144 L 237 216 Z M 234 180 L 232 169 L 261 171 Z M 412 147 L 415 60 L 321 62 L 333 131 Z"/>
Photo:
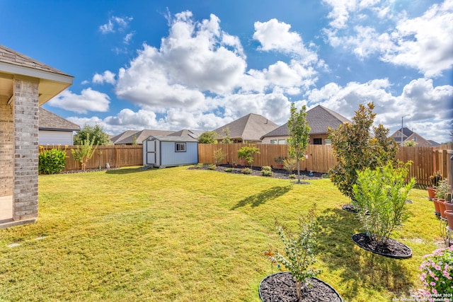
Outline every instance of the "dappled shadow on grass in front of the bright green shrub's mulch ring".
<path fill-rule="evenodd" d="M 343 209 L 326 209 L 317 218 L 316 234 L 319 248 L 317 257 L 332 272 L 340 272 L 340 284 L 347 291 L 340 293 L 345 301 L 357 297 L 359 289 L 388 289 L 396 296 L 408 296 L 413 289 L 411 274 L 403 261 L 359 248 L 351 236 L 358 233 L 360 223 L 355 215 Z M 328 280 L 326 280 L 328 282 Z"/>

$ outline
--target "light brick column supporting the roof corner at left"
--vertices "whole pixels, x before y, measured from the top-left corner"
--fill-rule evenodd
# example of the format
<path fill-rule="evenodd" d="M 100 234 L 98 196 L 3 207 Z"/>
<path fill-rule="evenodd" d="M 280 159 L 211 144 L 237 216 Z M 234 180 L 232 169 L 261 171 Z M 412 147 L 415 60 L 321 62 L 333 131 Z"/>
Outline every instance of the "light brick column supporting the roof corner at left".
<path fill-rule="evenodd" d="M 38 80 L 14 79 L 13 220 L 38 217 Z"/>

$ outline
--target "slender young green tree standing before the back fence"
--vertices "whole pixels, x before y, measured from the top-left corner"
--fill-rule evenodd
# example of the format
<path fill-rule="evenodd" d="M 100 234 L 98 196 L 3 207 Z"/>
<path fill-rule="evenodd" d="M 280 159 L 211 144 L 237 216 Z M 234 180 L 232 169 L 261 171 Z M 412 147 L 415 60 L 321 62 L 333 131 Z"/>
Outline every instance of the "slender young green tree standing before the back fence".
<path fill-rule="evenodd" d="M 297 112 L 294 103 L 291 104 L 291 117 L 288 120 L 289 157 L 297 161 L 297 182 L 300 182 L 300 161 L 305 158 L 306 147 L 309 144 L 310 127 L 306 120 L 306 106 Z"/>

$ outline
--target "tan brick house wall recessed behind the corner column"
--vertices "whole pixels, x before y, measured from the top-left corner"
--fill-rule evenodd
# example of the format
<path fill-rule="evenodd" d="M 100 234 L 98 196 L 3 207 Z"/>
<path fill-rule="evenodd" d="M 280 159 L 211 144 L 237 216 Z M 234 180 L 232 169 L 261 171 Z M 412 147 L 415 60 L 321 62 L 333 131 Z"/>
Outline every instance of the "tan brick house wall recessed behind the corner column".
<path fill-rule="evenodd" d="M 7 101 L 0 97 L 0 196 L 13 194 L 13 109 Z"/>

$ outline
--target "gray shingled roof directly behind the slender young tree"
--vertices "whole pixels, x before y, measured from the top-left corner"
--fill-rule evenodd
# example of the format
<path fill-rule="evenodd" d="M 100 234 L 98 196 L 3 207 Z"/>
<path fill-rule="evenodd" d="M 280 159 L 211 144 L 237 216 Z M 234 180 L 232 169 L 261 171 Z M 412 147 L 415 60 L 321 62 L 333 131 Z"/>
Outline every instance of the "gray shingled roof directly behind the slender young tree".
<path fill-rule="evenodd" d="M 330 110 L 322 105 L 317 105 L 306 112 L 306 120 L 309 122 L 310 134 L 325 134 L 327 128 L 337 129 L 340 124 L 350 122 L 338 112 Z M 264 137 L 287 137 L 289 135 L 288 124 L 283 124 L 277 129 L 263 135 Z"/>

